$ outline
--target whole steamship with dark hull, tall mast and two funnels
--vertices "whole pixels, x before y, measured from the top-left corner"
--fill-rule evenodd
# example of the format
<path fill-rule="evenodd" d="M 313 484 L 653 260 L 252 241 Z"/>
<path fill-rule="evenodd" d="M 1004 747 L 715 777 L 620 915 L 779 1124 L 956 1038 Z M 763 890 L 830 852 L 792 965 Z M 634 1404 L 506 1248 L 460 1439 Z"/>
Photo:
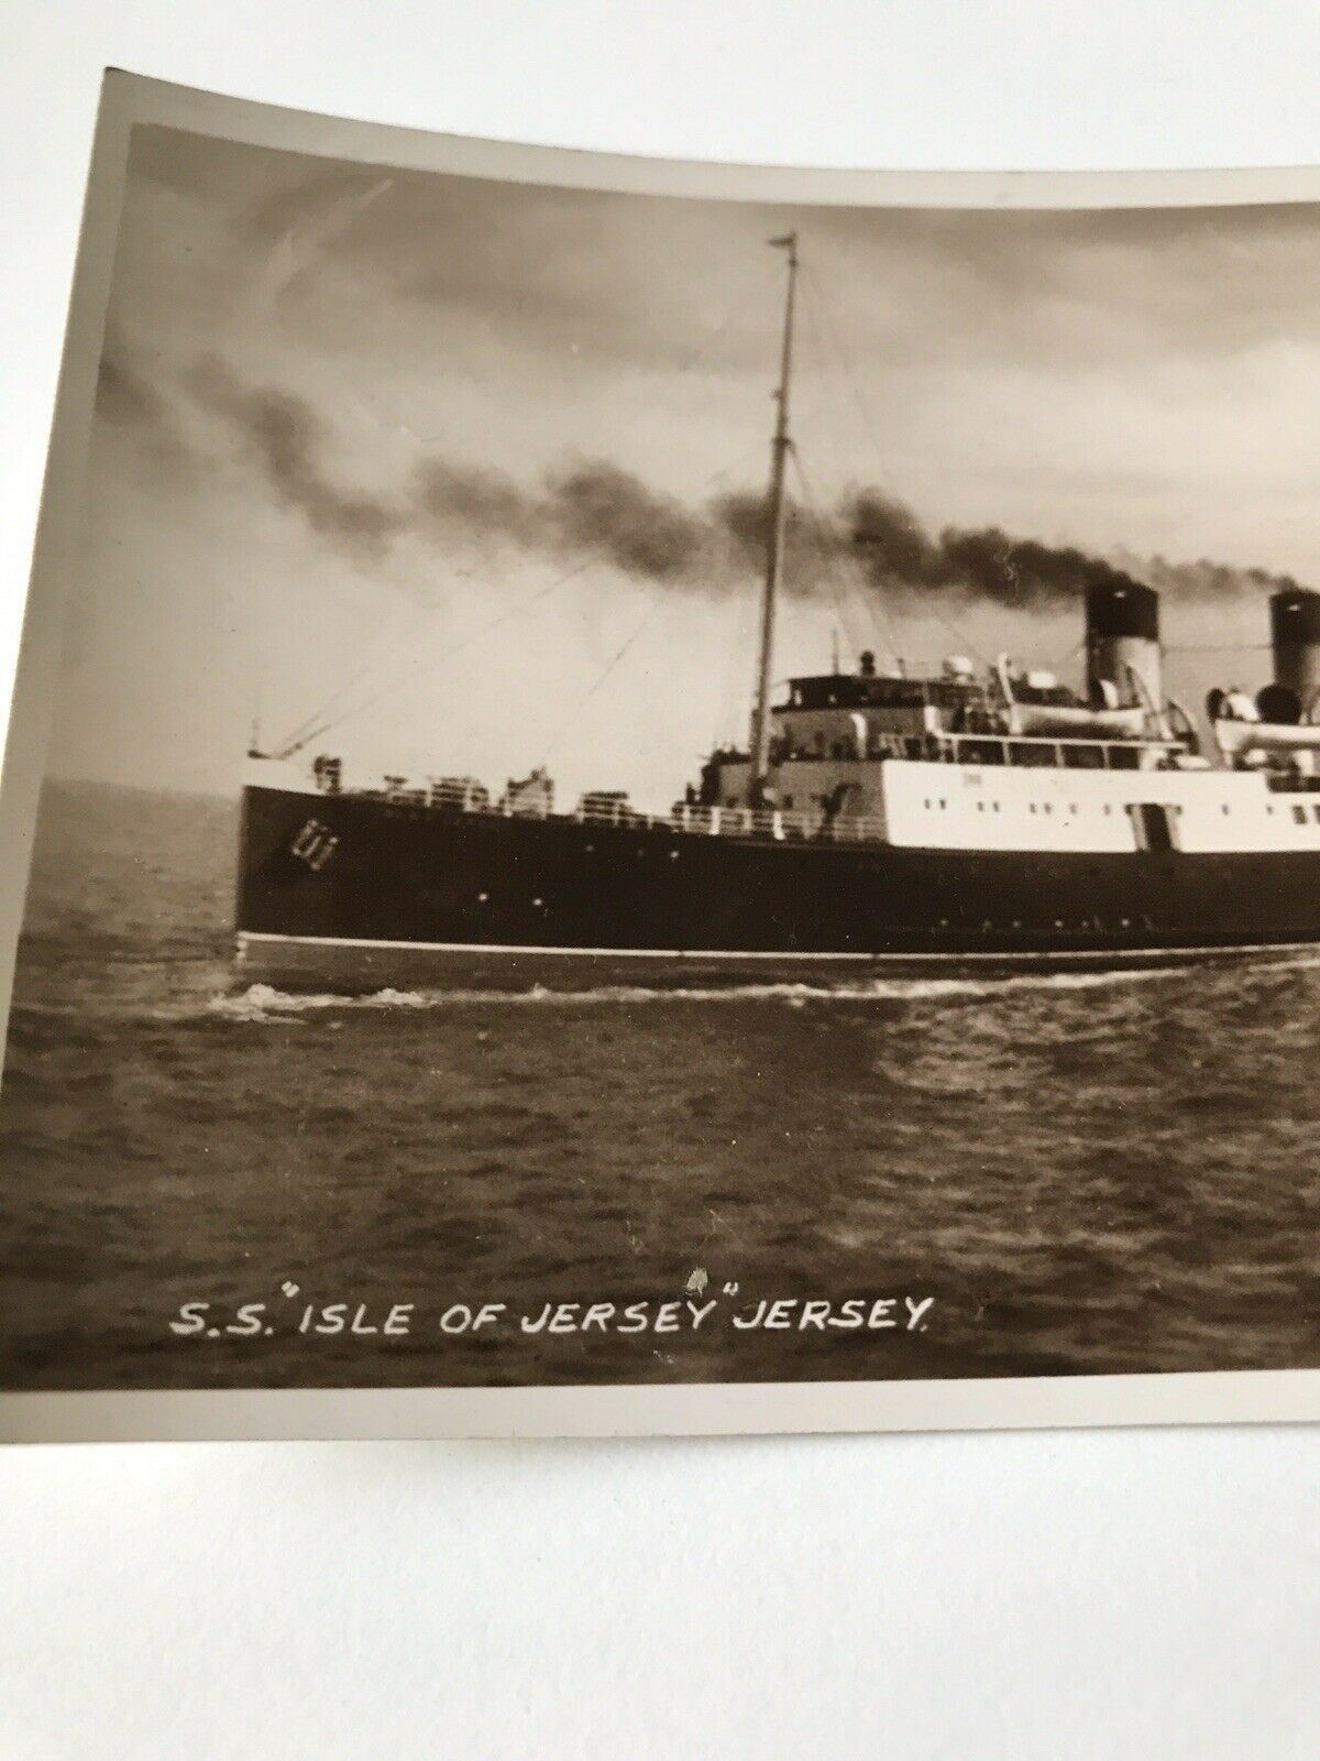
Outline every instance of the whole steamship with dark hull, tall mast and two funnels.
<path fill-rule="evenodd" d="M 667 814 L 535 770 L 350 784 L 252 750 L 238 967 L 282 988 L 815 981 L 1239 958 L 1320 942 L 1320 595 L 1269 602 L 1272 680 L 1162 683 L 1158 595 L 1079 593 L 1075 685 L 880 667 L 771 687 L 785 549 L 796 236 L 750 738 Z M 1262 608 L 1264 613 L 1264 608 Z"/>

